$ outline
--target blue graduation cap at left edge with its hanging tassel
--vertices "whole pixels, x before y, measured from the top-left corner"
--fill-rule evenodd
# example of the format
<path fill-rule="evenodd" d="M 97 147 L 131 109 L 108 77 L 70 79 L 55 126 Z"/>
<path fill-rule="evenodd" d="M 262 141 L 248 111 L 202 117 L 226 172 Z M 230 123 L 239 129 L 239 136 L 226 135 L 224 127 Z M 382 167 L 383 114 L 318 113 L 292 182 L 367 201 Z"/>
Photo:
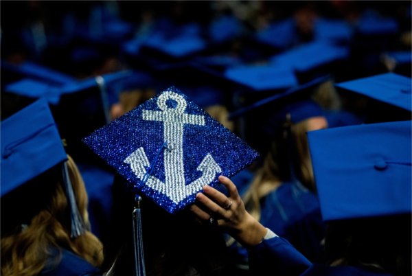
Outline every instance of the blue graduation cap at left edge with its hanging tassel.
<path fill-rule="evenodd" d="M 65 185 L 67 201 L 71 208 L 71 237 L 77 237 L 84 232 L 84 222 L 77 209 L 65 161 L 67 161 L 67 154 L 45 100 L 38 100 L 1 122 L 2 200 L 3 196 L 13 194 L 14 191 L 19 191 L 30 183 L 32 186 L 30 190 L 34 191 L 34 194 L 30 193 L 32 198 L 30 202 L 34 200 L 34 205 L 30 205 L 28 209 L 35 209 L 42 204 L 45 191 L 41 181 L 32 182 L 32 180 L 52 168 L 61 166 L 60 179 Z M 57 185 L 59 179 L 55 181 Z M 17 194 L 17 198 L 23 197 Z M 10 201 L 5 200 L 5 202 Z M 24 209 L 27 209 L 26 204 L 27 202 L 24 204 L 19 201 L 19 205 L 23 205 Z"/>

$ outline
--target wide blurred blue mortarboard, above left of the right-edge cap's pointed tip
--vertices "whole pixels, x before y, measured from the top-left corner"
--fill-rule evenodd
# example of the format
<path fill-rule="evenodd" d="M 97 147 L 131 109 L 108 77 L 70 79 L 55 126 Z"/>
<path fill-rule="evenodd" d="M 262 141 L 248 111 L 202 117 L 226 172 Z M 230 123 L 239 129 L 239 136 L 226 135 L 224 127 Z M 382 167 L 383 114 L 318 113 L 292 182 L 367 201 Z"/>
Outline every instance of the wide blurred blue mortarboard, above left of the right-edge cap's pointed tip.
<path fill-rule="evenodd" d="M 347 47 L 336 46 L 327 41 L 313 41 L 272 56 L 270 60 L 273 65 L 278 67 L 305 72 L 343 60 L 348 56 Z"/>

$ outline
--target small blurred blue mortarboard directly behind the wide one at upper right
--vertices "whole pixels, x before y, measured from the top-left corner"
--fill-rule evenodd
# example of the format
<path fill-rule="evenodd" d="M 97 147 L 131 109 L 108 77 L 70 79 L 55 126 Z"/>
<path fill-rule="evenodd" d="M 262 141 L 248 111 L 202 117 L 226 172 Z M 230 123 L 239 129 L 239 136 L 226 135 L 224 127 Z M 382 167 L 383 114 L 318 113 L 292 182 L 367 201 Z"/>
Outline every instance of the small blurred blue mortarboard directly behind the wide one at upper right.
<path fill-rule="evenodd" d="M 315 39 L 347 42 L 353 36 L 352 26 L 343 20 L 318 19 L 314 25 Z"/>

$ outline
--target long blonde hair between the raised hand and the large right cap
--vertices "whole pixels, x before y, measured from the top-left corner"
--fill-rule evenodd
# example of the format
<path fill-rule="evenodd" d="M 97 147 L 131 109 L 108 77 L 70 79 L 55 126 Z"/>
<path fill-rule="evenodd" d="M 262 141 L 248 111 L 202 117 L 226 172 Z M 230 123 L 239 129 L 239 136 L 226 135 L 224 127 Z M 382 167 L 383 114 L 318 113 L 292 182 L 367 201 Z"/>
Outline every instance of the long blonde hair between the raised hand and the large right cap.
<path fill-rule="evenodd" d="M 297 177 L 308 189 L 314 189 L 314 177 L 312 172 L 312 163 L 306 139 L 306 131 L 308 130 L 308 120 L 301 121 L 297 124 L 286 126 L 290 127 L 291 138 L 293 139 L 293 152 L 287 152 L 288 147 L 286 132 L 279 135 L 271 142 L 271 148 L 268 150 L 262 168 L 256 171 L 251 186 L 243 196 L 244 204 L 249 213 L 260 220 L 261 209 L 260 200 L 267 194 L 277 189 L 282 182 L 287 181 L 290 168 L 288 161 L 285 159 L 285 154 L 292 154 L 293 167 L 297 173 Z"/>

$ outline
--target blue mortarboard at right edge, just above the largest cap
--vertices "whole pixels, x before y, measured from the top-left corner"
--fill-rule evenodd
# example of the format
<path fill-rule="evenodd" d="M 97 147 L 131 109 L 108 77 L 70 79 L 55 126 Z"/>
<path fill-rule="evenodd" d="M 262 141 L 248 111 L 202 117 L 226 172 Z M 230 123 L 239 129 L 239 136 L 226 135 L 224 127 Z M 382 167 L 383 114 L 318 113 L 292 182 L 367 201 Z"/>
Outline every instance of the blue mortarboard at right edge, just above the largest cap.
<path fill-rule="evenodd" d="M 335 86 L 412 111 L 411 78 L 396 73 L 383 73 L 367 78 L 340 82 Z"/>

